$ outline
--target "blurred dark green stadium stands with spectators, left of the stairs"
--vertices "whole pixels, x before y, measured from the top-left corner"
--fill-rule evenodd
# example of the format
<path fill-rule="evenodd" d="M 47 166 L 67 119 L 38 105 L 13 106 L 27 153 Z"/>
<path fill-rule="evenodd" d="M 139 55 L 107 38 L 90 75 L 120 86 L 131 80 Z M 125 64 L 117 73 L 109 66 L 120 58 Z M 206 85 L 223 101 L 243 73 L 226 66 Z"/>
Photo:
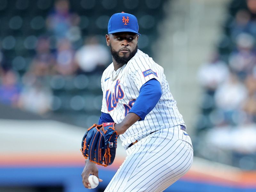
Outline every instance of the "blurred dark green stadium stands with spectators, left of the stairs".
<path fill-rule="evenodd" d="M 136 14 L 139 48 L 150 52 L 163 2 L 1 0 L 0 102 L 91 126 L 100 115 L 101 74 L 112 62 L 105 43 L 110 16 L 124 11 L 118 7 Z"/>

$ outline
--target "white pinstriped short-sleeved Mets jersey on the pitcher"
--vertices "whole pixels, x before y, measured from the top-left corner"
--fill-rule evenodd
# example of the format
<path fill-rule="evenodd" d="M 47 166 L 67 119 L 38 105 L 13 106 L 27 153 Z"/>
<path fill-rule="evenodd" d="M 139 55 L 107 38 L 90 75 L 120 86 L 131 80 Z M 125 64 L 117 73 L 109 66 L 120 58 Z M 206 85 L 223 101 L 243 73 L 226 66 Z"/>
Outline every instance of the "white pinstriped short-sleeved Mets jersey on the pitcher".
<path fill-rule="evenodd" d="M 118 73 L 116 80 L 112 81 L 112 77 L 115 78 L 115 74 Z M 146 137 L 151 132 L 184 125 L 184 121 L 170 92 L 164 69 L 147 54 L 138 50 L 123 68 L 114 71 L 114 65 L 111 63 L 103 72 L 101 111 L 110 114 L 116 123 L 120 123 L 130 111 L 139 96 L 141 86 L 153 78 L 160 82 L 162 96 L 144 121 L 137 121 L 124 134 L 120 135 L 124 148 L 127 148 L 132 142 Z M 145 101 L 145 104 L 147 102 L 150 101 Z"/>

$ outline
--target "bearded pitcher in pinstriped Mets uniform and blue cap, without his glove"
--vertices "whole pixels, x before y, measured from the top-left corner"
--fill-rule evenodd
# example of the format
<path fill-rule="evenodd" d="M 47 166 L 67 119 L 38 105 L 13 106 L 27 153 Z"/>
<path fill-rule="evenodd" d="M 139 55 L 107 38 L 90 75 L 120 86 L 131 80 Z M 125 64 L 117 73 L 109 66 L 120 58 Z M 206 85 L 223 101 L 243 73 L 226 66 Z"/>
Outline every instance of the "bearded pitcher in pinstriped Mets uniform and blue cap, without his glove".
<path fill-rule="evenodd" d="M 137 18 L 124 12 L 108 22 L 106 41 L 113 62 L 101 78 L 99 124 L 116 123 L 127 157 L 106 192 L 164 191 L 193 161 L 191 139 L 164 69 L 138 49 L 138 29 Z M 91 187 L 90 174 L 98 177 L 98 168 L 87 159 L 82 173 L 86 188 Z"/>

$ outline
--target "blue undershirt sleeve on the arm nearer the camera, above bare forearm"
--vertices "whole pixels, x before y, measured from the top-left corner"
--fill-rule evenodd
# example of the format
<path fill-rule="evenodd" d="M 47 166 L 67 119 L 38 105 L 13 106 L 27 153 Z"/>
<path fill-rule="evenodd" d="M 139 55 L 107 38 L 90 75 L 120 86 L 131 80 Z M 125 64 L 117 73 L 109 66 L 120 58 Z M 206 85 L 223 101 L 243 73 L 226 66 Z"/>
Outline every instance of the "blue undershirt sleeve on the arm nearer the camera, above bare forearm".
<path fill-rule="evenodd" d="M 150 79 L 140 88 L 140 94 L 134 102 L 129 113 L 135 113 L 141 120 L 145 119 L 150 111 L 156 106 L 162 95 L 161 84 L 156 79 Z"/>

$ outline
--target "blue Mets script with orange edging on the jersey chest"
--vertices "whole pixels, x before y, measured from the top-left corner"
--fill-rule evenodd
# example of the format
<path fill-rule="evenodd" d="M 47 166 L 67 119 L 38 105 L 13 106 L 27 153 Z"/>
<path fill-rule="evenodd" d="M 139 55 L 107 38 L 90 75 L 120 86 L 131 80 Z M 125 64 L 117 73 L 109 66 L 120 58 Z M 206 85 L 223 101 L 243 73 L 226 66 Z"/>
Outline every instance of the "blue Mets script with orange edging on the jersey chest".
<path fill-rule="evenodd" d="M 109 92 L 109 90 L 106 92 L 106 103 L 108 111 L 112 111 L 114 108 L 116 108 L 119 99 L 124 98 L 124 91 L 121 89 L 119 84 L 120 81 L 118 79 L 115 85 L 115 92 L 112 93 L 111 91 Z"/>

